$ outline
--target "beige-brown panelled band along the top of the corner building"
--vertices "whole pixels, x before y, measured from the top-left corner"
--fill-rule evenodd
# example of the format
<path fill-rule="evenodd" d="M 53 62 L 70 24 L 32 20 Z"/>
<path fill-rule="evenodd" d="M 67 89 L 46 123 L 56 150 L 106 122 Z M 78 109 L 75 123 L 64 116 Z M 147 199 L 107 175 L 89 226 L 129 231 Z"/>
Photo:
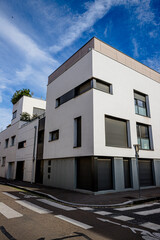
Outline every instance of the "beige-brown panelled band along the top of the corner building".
<path fill-rule="evenodd" d="M 48 85 L 84 57 L 91 49 L 160 83 L 160 73 L 93 37 L 48 77 Z"/>

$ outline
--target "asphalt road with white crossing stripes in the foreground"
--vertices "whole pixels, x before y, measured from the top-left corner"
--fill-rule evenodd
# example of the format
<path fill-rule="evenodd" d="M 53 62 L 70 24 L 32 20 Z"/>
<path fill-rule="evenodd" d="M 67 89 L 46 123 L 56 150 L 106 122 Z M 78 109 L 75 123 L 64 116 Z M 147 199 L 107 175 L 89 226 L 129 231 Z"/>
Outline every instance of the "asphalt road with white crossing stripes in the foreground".
<path fill-rule="evenodd" d="M 0 240 L 158 240 L 160 204 L 77 208 L 0 185 Z"/>

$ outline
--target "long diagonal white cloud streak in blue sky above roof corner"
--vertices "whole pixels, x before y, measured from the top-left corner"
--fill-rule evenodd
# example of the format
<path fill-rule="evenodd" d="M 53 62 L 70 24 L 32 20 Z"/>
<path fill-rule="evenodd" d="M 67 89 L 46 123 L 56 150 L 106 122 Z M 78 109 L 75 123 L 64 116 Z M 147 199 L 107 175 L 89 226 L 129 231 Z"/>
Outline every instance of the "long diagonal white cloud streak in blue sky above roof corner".
<path fill-rule="evenodd" d="M 52 52 L 61 51 L 71 45 L 81 34 L 91 28 L 99 19 L 103 18 L 111 7 L 137 3 L 137 0 L 95 0 L 87 6 L 87 11 L 73 17 L 73 24 L 62 34 L 59 43 L 50 47 Z"/>

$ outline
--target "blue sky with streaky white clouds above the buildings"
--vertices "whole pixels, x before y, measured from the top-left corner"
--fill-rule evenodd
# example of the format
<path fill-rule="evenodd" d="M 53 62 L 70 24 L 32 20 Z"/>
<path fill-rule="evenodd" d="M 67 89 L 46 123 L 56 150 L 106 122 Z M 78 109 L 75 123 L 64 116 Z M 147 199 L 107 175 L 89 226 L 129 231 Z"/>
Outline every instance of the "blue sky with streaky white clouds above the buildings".
<path fill-rule="evenodd" d="M 14 92 L 45 99 L 48 76 L 93 36 L 160 72 L 160 0 L 0 0 L 0 130 Z"/>

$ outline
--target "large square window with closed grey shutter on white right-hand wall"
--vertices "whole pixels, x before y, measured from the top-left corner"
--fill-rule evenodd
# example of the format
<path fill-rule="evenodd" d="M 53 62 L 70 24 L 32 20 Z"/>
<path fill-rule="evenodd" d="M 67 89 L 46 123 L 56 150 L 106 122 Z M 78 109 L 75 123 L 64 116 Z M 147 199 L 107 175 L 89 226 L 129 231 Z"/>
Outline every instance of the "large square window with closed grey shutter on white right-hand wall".
<path fill-rule="evenodd" d="M 106 146 L 131 147 L 129 121 L 105 116 Z"/>

